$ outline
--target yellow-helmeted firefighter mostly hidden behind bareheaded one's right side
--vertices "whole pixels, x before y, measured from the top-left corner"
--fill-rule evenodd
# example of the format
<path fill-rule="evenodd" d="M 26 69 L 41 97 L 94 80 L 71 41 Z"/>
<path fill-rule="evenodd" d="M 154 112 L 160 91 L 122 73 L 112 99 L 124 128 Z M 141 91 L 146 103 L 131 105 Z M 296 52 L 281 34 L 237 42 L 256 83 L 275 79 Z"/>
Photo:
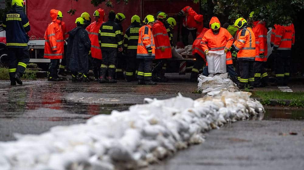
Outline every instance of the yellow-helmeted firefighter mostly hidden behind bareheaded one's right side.
<path fill-rule="evenodd" d="M 126 16 L 123 13 L 117 13 L 114 21 L 117 23 L 119 26 L 120 30 L 120 38 L 123 42 L 123 26 L 121 25 L 123 20 L 126 19 Z M 123 56 L 123 53 L 118 51 L 117 52 L 117 64 L 116 64 L 116 79 L 124 79 L 123 77 L 123 68 L 126 63 L 126 60 Z"/>

